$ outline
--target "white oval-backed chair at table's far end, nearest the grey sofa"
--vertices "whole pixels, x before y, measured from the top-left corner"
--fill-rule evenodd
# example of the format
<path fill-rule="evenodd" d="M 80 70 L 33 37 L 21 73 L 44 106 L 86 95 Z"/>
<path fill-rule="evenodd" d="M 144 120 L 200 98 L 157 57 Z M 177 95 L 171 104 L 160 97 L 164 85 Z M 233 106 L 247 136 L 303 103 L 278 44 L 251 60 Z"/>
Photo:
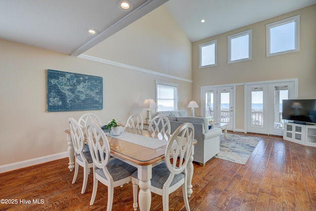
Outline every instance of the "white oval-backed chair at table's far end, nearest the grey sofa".
<path fill-rule="evenodd" d="M 160 132 L 170 134 L 171 127 L 169 119 L 165 115 L 156 115 L 150 122 L 148 130 L 151 132 Z"/>

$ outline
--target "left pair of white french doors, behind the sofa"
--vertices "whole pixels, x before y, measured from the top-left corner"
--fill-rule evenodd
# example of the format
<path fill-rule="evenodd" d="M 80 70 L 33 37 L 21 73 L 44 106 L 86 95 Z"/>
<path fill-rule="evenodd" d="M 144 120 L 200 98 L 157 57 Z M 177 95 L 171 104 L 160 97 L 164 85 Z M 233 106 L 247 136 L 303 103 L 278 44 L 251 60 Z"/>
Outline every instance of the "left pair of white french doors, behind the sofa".
<path fill-rule="evenodd" d="M 233 130 L 234 123 L 234 86 L 206 88 L 202 93 L 205 102 L 205 116 L 215 123 L 228 124 L 227 129 Z"/>

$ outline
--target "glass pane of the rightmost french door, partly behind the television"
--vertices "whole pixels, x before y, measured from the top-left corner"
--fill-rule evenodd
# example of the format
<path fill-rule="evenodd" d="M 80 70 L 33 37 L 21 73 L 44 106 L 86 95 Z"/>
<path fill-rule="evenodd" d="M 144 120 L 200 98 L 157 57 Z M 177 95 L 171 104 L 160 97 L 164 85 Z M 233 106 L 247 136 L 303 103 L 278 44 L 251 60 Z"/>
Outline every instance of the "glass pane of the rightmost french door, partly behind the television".
<path fill-rule="evenodd" d="M 287 86 L 275 86 L 275 128 L 283 129 L 284 121 L 282 120 L 282 100 L 288 99 Z"/>

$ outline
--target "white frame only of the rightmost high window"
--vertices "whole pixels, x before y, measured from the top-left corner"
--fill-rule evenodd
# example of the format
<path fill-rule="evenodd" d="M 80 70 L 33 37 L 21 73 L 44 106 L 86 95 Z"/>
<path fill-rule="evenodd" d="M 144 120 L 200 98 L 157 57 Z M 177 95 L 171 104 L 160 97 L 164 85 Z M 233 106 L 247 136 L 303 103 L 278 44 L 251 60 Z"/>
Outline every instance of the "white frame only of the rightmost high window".
<path fill-rule="evenodd" d="M 281 26 L 287 23 L 291 23 L 294 22 L 295 23 L 295 49 L 292 50 L 285 50 L 285 51 L 281 51 L 281 52 L 276 52 L 276 53 L 270 53 L 270 29 L 277 27 L 277 26 Z M 280 54 L 285 54 L 285 53 L 292 53 L 292 52 L 296 52 L 296 51 L 300 51 L 300 15 L 296 15 L 294 17 L 290 17 L 290 18 L 286 18 L 280 21 L 276 21 L 274 23 L 270 23 L 266 25 L 266 56 L 275 56 L 275 55 L 280 55 Z"/>

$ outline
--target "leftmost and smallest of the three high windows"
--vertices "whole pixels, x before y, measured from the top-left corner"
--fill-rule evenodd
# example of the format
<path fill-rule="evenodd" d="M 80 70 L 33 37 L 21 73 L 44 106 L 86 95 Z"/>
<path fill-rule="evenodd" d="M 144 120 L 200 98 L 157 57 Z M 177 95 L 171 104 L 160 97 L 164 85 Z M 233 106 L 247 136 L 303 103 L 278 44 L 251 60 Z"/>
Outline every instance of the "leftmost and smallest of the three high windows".
<path fill-rule="evenodd" d="M 198 68 L 212 67 L 217 65 L 217 40 L 199 44 L 198 48 Z"/>

